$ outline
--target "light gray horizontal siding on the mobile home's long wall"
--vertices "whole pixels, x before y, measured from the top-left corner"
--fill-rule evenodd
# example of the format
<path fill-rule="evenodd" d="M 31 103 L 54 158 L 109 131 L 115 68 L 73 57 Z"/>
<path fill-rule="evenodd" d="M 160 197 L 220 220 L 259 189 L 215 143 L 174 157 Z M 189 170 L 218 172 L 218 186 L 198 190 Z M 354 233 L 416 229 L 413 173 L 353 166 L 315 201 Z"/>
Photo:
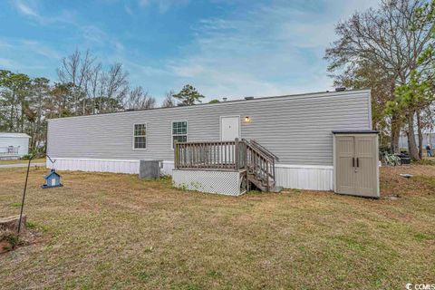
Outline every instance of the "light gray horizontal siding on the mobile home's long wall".
<path fill-rule="evenodd" d="M 56 158 L 174 160 L 172 122 L 187 121 L 189 142 L 220 140 L 220 117 L 241 118 L 240 138 L 272 151 L 281 164 L 333 165 L 333 134 L 371 130 L 370 91 L 323 92 L 239 102 L 60 118 L 48 121 Z M 133 124 L 147 123 L 147 150 L 133 150 Z"/>

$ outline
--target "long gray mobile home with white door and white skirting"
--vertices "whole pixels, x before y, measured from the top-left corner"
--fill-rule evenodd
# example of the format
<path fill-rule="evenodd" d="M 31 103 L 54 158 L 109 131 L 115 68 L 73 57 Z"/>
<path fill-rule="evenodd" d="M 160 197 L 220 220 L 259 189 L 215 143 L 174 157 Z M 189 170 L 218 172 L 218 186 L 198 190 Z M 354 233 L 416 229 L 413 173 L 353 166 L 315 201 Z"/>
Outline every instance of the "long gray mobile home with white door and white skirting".
<path fill-rule="evenodd" d="M 275 186 L 333 190 L 333 131 L 371 130 L 370 90 L 78 116 L 48 121 L 47 153 L 56 162 L 47 166 L 136 174 L 140 160 L 162 160 L 164 174 L 182 179 L 177 170 L 189 164 L 203 171 L 248 167 L 247 156 L 254 160 L 257 152 L 272 163 Z M 245 160 L 238 158 L 251 147 Z"/>

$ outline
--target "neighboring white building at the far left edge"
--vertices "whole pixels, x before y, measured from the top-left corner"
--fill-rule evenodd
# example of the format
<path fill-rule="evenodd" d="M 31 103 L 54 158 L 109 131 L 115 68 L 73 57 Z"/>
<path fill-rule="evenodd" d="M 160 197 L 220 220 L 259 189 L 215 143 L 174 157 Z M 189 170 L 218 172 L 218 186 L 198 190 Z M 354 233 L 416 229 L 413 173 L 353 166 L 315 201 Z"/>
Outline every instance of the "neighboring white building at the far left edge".
<path fill-rule="evenodd" d="M 0 159 L 20 159 L 28 154 L 29 139 L 24 133 L 0 132 Z"/>

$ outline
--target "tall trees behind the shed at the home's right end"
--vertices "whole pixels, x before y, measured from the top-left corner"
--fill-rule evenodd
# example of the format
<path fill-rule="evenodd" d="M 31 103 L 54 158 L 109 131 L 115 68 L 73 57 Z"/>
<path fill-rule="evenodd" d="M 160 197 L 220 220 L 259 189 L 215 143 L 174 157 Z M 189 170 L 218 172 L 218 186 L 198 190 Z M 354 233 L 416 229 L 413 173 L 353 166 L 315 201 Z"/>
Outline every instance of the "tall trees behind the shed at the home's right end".
<path fill-rule="evenodd" d="M 372 88 L 382 145 L 399 153 L 404 131 L 413 160 L 422 158 L 422 131 L 434 127 L 434 11 L 434 0 L 383 0 L 337 24 L 325 53 L 335 85 Z"/>

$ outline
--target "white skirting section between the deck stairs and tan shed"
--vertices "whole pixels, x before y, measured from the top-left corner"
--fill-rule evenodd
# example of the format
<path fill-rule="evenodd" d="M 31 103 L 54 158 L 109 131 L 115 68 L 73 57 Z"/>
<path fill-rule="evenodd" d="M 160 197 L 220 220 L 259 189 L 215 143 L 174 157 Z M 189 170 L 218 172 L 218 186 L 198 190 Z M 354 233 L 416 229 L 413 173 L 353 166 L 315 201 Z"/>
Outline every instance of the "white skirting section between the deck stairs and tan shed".
<path fill-rule="evenodd" d="M 285 189 L 333 190 L 333 166 L 276 164 L 275 176 Z"/>

